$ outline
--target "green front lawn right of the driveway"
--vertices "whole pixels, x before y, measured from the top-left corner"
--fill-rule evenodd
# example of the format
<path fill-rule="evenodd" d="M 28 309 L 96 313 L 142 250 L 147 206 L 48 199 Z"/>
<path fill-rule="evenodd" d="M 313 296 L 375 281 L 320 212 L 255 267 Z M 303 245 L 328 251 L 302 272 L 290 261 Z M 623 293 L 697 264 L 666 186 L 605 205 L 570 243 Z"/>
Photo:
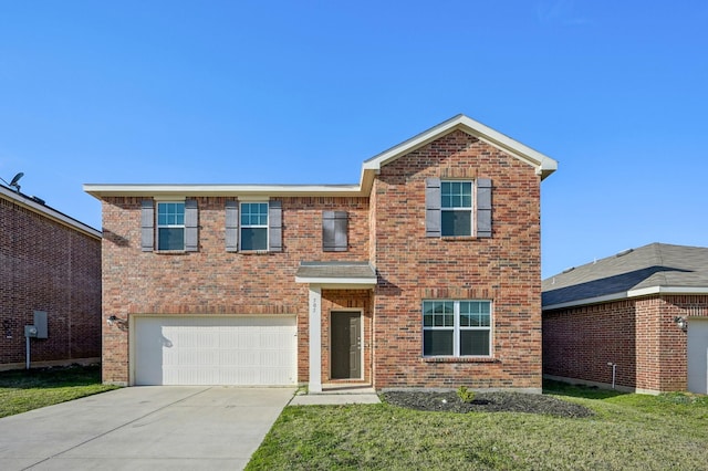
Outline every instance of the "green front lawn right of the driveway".
<path fill-rule="evenodd" d="M 420 412 L 381 405 L 287 407 L 248 470 L 704 470 L 708 397 L 546 385 L 595 411 Z"/>

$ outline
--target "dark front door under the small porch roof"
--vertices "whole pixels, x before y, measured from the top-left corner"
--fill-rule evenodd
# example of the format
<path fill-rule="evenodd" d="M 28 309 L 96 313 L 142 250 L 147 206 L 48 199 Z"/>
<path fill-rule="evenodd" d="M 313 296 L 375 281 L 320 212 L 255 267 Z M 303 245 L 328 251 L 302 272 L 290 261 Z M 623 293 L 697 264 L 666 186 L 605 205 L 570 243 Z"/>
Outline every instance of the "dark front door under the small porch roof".
<path fill-rule="evenodd" d="M 332 379 L 362 378 L 362 315 L 332 313 Z"/>

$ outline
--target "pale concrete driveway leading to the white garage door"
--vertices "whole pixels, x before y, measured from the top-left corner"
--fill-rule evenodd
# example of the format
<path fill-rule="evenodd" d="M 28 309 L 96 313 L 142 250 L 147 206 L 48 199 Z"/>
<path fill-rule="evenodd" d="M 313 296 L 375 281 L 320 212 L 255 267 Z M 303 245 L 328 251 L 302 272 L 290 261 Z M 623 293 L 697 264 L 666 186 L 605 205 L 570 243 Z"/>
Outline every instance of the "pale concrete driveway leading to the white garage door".
<path fill-rule="evenodd" d="M 142 386 L 0 419 L 0 470 L 238 470 L 294 388 Z"/>

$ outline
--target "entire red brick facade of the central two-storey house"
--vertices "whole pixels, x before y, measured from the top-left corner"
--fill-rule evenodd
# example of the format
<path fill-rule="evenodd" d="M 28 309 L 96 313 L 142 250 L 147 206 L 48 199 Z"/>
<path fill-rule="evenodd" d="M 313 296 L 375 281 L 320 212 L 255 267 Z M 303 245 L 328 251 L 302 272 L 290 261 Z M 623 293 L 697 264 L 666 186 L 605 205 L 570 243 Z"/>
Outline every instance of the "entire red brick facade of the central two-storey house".
<path fill-rule="evenodd" d="M 131 316 L 144 314 L 295 315 L 298 379 L 312 381 L 312 292 L 295 282 L 298 268 L 302 261 L 367 261 L 377 274 L 374 289 L 321 291 L 322 383 L 332 381 L 331 313 L 344 310 L 362 313 L 363 381 L 378 389 L 466 385 L 539 391 L 540 170 L 469 132 L 441 133 L 382 165 L 369 186 L 360 186 L 366 188 L 357 190 L 361 197 L 270 195 L 282 203 L 283 250 L 275 253 L 225 250 L 225 205 L 238 195 L 186 195 L 197 199 L 196 252 L 144 252 L 140 202 L 153 195 L 101 195 L 97 189 L 94 196 L 103 200 L 103 316 L 129 325 Z M 427 177 L 491 179 L 492 237 L 426 238 Z M 324 210 L 347 212 L 347 251 L 322 250 Z M 424 358 L 425 300 L 490 301 L 491 356 Z M 103 323 L 105 381 L 129 384 L 129 328 Z"/>

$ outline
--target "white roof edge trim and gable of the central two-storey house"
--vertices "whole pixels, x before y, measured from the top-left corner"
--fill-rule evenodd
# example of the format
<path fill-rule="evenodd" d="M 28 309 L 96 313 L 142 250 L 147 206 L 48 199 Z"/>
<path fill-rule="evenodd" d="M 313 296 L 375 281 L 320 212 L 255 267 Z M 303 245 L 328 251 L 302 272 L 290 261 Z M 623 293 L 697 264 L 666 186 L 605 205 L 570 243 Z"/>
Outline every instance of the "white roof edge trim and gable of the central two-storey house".
<path fill-rule="evenodd" d="M 558 168 L 558 161 L 465 115 L 457 115 L 391 149 L 365 160 L 358 185 L 84 185 L 84 191 L 101 199 L 108 196 L 342 196 L 366 197 L 378 170 L 397 158 L 460 129 L 535 168 L 541 179 Z"/>

